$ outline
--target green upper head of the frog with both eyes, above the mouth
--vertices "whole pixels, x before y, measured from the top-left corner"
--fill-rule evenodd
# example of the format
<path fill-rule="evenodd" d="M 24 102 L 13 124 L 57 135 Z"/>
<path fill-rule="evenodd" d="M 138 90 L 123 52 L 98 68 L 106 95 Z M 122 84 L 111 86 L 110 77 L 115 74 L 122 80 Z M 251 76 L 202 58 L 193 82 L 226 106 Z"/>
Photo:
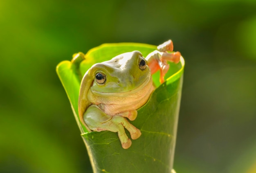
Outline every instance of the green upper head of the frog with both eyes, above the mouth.
<path fill-rule="evenodd" d="M 139 51 L 123 53 L 94 64 L 88 75 L 94 78 L 92 91 L 119 93 L 134 90 L 150 81 L 150 68 Z"/>

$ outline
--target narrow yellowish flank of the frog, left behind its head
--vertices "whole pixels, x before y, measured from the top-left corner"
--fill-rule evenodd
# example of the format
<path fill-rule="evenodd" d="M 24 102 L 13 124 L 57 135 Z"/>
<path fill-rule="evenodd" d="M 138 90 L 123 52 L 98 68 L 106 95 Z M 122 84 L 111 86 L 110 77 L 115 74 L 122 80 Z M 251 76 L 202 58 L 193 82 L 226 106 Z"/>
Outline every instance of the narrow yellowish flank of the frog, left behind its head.
<path fill-rule="evenodd" d="M 88 98 L 87 98 L 87 92 L 91 87 L 92 81 L 94 81 L 94 75 L 88 75 L 88 74 L 90 74 L 90 72 L 91 72 L 91 69 L 89 69 L 83 76 L 83 79 L 82 79 L 81 85 L 80 85 L 80 90 L 79 90 L 79 98 L 78 98 L 79 118 L 80 118 L 81 123 L 83 125 L 85 125 L 85 127 L 88 131 L 91 131 L 91 130 L 85 124 L 85 122 L 83 120 L 83 114 L 85 113 L 85 110 L 90 106 L 90 102 L 88 101 Z"/>

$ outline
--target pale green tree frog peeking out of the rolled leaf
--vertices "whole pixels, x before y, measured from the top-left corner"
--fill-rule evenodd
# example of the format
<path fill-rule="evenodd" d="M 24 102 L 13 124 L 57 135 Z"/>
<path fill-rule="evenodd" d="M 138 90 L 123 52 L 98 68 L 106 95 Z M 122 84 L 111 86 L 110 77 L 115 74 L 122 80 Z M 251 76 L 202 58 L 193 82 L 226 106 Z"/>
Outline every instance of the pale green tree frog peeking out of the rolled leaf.
<path fill-rule="evenodd" d="M 117 132 L 123 149 L 141 136 L 131 121 L 137 109 L 146 104 L 155 90 L 152 74 L 160 70 L 160 83 L 169 69 L 168 61 L 178 63 L 180 52 L 173 52 L 168 40 L 144 57 L 134 50 L 94 64 L 85 72 L 79 90 L 79 118 L 91 131 Z M 130 133 L 128 138 L 125 129 Z"/>

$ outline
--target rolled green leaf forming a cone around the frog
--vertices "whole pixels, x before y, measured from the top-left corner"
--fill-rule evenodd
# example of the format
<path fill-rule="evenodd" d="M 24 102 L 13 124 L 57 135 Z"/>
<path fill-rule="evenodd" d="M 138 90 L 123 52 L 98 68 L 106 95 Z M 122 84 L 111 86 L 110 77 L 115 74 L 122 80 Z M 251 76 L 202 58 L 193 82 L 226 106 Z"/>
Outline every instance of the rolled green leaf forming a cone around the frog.
<path fill-rule="evenodd" d="M 88 133 L 78 118 L 77 101 L 81 75 L 88 68 L 121 53 L 139 50 L 146 57 L 155 49 L 156 46 L 138 43 L 103 44 L 89 50 L 85 57 L 80 54 L 79 58 L 71 62 L 63 61 L 57 66 L 58 76 L 72 105 L 94 173 L 171 172 L 180 108 L 183 58 L 179 64 L 170 63 L 166 82 L 162 85 L 159 83 L 159 73 L 153 75 L 157 88 L 146 105 L 138 109 L 136 120 L 131 122 L 141 130 L 141 137 L 132 140 L 129 149 L 121 147 L 117 133 Z M 127 135 L 129 136 L 128 132 Z"/>

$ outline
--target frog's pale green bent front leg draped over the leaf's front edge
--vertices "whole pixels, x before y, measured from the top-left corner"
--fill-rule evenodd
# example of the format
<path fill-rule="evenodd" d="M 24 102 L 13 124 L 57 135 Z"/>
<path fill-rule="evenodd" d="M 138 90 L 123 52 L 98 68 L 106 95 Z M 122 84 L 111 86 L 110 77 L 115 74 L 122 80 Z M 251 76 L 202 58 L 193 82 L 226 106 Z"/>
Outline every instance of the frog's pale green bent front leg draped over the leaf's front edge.
<path fill-rule="evenodd" d="M 132 145 L 132 141 L 126 135 L 124 128 L 130 132 L 132 139 L 137 139 L 141 135 L 139 129 L 131 125 L 123 116 L 110 116 L 101 111 L 96 105 L 91 105 L 85 111 L 83 119 L 86 125 L 93 131 L 112 131 L 117 132 L 121 145 L 124 149 L 128 149 Z"/>

